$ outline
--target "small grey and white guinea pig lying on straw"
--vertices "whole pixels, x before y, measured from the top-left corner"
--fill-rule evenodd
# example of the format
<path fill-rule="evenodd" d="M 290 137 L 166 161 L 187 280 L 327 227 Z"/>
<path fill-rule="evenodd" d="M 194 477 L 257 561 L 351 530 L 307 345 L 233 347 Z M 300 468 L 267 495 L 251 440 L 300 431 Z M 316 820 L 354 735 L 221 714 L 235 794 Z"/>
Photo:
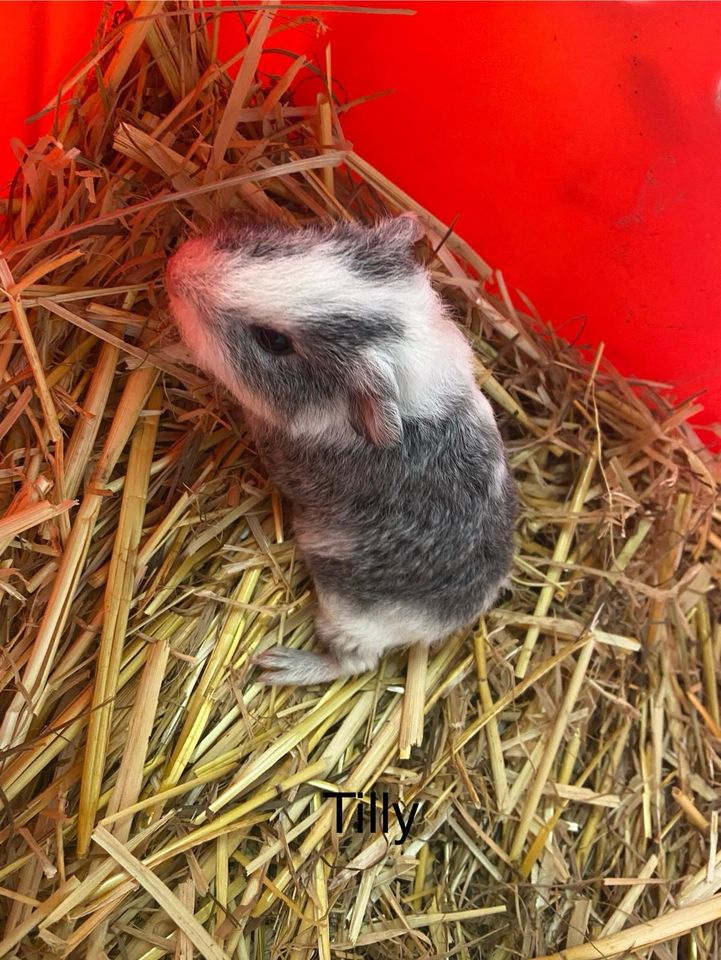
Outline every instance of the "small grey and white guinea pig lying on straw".
<path fill-rule="evenodd" d="M 516 491 L 466 339 L 413 256 L 413 216 L 286 229 L 226 219 L 167 267 L 195 362 L 245 408 L 315 584 L 314 651 L 271 683 L 374 669 L 489 609 Z"/>

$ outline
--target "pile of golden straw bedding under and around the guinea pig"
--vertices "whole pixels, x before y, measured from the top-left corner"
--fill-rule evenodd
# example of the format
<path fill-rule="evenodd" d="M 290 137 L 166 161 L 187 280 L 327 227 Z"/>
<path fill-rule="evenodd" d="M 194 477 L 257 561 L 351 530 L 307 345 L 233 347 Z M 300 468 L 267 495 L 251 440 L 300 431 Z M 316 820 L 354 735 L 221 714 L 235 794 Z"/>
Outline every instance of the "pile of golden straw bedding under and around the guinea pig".
<path fill-rule="evenodd" d="M 0 957 L 718 956 L 693 406 L 519 316 L 419 211 L 520 485 L 512 596 L 407 695 L 404 655 L 261 687 L 251 655 L 312 642 L 312 592 L 242 417 L 167 333 L 164 262 L 221 208 L 419 208 L 342 105 L 293 104 L 310 65 L 258 74 L 291 7 L 243 13 L 229 64 L 212 8 L 133 7 L 22 154 L 1 244 Z M 352 802 L 336 833 L 340 789 L 419 802 L 409 838 Z"/>

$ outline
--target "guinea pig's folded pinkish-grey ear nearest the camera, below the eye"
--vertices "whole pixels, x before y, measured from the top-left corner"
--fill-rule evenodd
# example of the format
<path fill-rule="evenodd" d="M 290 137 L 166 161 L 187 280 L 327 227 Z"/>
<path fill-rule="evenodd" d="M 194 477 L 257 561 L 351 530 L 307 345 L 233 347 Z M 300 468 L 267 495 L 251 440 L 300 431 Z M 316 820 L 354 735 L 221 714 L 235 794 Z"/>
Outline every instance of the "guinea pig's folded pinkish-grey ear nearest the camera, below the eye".
<path fill-rule="evenodd" d="M 359 367 L 348 397 L 350 424 L 375 447 L 392 447 L 403 438 L 398 386 L 390 367 L 369 361 Z"/>

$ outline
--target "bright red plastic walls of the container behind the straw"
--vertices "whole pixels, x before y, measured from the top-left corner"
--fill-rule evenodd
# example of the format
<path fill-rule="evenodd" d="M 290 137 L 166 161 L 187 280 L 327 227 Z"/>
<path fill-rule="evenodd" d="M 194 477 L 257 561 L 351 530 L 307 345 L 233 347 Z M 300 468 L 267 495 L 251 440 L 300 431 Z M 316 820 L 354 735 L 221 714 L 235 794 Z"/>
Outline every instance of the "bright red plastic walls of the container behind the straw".
<path fill-rule="evenodd" d="M 700 420 L 721 420 L 721 5 L 396 5 L 417 12 L 326 15 L 347 94 L 396 91 L 346 118 L 357 151 L 458 216 L 568 339 L 603 340 L 623 373 L 679 397 L 705 390 Z M 24 118 L 87 50 L 100 9 L 0 4 L 0 182 L 5 144 L 37 134 Z M 308 26 L 289 43 L 320 54 L 325 40 Z"/>

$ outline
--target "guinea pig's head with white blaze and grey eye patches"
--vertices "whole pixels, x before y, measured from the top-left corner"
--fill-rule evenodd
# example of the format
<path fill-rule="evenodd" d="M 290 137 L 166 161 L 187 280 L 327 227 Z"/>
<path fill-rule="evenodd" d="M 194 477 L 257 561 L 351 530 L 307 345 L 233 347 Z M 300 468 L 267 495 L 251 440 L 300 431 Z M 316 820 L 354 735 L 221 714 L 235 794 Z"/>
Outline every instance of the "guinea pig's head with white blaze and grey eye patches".
<path fill-rule="evenodd" d="M 373 227 L 287 229 L 225 219 L 186 241 L 166 274 L 195 362 L 256 417 L 293 428 L 343 421 L 396 443 L 399 358 L 434 302 L 403 215 Z"/>

